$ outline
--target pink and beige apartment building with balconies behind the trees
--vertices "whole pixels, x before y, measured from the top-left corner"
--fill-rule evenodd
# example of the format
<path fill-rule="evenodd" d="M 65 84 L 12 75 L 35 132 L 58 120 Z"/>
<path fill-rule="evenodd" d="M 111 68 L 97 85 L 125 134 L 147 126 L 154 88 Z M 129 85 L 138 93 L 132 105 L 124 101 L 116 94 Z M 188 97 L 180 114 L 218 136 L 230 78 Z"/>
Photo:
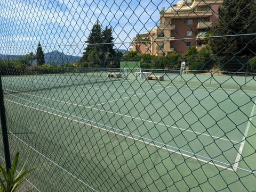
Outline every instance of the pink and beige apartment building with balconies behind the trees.
<path fill-rule="evenodd" d="M 221 4 L 222 0 L 179 1 L 160 12 L 158 26 L 133 39 L 131 50 L 163 56 L 186 52 L 191 46 L 201 49 L 207 44 L 205 35 L 217 23 Z"/>

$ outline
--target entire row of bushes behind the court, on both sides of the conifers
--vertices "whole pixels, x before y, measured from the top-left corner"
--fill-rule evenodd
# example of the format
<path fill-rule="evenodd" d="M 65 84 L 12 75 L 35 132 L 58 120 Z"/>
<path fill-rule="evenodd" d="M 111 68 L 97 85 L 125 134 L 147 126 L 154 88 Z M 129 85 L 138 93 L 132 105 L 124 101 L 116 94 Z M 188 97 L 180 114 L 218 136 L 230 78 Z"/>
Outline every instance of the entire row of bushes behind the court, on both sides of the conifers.
<path fill-rule="evenodd" d="M 205 71 L 217 68 L 222 72 L 256 72 L 256 57 L 218 57 L 211 49 L 202 48 L 197 51 L 196 47 L 190 47 L 186 53 L 170 53 L 166 56 L 155 56 L 151 54 L 138 54 L 130 51 L 116 57 L 115 64 L 105 66 L 106 68 L 119 68 L 120 61 L 140 61 L 142 69 L 180 69 L 182 61 L 186 62 L 189 71 Z M 111 60 L 113 61 L 113 60 Z M 89 68 L 87 62 L 77 61 L 75 64 L 62 64 L 60 66 L 52 63 L 37 65 L 26 57 L 13 60 L 0 59 L 0 70 L 2 75 L 25 75 L 25 74 L 50 74 L 61 73 L 63 68 Z"/>

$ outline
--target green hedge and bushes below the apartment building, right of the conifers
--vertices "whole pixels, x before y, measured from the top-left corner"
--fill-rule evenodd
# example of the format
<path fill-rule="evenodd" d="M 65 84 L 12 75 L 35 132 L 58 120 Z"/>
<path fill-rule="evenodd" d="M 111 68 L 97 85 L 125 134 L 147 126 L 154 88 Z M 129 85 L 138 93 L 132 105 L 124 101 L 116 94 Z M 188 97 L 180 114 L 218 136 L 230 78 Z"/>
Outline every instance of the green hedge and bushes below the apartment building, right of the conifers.
<path fill-rule="evenodd" d="M 220 57 L 212 52 L 210 46 L 199 51 L 192 46 L 186 53 L 170 53 L 166 56 L 138 54 L 135 51 L 123 55 L 124 61 L 140 61 L 142 69 L 180 69 L 182 61 L 189 71 L 220 70 L 222 72 L 256 72 L 256 57 Z"/>

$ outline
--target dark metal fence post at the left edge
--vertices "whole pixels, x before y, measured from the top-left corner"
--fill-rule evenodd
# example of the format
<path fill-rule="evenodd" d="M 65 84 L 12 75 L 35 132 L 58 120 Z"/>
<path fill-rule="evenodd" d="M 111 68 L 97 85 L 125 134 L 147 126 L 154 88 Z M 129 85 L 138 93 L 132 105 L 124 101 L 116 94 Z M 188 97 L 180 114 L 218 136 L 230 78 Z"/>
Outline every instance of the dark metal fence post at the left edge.
<path fill-rule="evenodd" d="M 7 133 L 7 126 L 6 126 L 6 118 L 5 118 L 2 74 L 0 74 L 0 115 L 1 115 L 2 136 L 3 136 L 3 145 L 4 145 L 5 166 L 6 166 L 6 171 L 8 172 L 12 165 L 11 165 L 8 133 Z"/>

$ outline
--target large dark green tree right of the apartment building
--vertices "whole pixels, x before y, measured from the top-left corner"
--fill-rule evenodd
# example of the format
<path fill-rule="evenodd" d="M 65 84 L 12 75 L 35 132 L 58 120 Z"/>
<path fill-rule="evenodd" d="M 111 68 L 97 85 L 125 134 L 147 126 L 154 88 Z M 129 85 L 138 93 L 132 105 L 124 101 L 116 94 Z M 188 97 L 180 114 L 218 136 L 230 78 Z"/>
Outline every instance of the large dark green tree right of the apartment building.
<path fill-rule="evenodd" d="M 255 36 L 241 36 L 255 32 L 255 11 L 256 4 L 253 0 L 223 1 L 219 8 L 218 23 L 212 32 L 214 36 L 228 37 L 211 38 L 209 43 L 215 55 L 227 58 L 256 54 Z"/>

